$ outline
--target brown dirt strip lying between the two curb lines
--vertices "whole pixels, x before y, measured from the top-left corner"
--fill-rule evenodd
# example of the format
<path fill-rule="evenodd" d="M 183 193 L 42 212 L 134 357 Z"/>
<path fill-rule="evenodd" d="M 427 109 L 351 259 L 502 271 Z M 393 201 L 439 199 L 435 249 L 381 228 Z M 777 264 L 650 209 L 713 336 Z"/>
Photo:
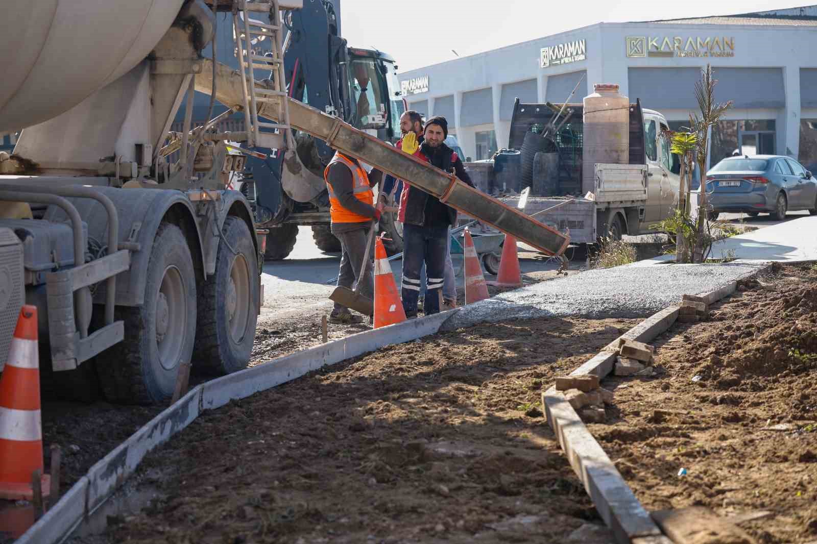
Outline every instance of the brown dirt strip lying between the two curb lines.
<path fill-rule="evenodd" d="M 540 395 L 634 323 L 446 332 L 206 412 L 107 542 L 610 542 Z"/>

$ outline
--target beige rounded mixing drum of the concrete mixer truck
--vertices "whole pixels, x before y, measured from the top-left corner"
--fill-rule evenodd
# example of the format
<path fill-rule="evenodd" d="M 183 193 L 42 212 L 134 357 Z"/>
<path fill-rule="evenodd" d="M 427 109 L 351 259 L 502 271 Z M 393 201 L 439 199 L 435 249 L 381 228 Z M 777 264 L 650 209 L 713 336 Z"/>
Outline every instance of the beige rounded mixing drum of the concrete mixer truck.
<path fill-rule="evenodd" d="M 148 56 L 183 0 L 3 2 L 0 134 L 78 105 Z"/>

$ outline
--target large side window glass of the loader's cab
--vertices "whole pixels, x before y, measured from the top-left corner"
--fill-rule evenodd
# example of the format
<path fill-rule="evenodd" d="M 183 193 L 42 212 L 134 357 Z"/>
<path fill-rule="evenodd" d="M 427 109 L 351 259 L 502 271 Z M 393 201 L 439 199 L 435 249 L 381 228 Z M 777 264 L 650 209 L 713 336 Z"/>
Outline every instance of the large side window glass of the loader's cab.
<path fill-rule="evenodd" d="M 360 129 L 386 127 L 388 112 L 383 103 L 384 75 L 372 58 L 352 57 L 350 65 L 352 125 Z"/>

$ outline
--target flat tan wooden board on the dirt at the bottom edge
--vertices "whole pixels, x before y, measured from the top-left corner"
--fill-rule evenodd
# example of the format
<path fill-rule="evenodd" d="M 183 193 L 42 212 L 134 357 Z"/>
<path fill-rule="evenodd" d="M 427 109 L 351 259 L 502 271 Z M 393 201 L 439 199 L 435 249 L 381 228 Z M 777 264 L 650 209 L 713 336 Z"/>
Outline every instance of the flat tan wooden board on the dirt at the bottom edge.
<path fill-rule="evenodd" d="M 703 506 L 657 511 L 652 517 L 675 544 L 757 544 L 742 528 Z"/>

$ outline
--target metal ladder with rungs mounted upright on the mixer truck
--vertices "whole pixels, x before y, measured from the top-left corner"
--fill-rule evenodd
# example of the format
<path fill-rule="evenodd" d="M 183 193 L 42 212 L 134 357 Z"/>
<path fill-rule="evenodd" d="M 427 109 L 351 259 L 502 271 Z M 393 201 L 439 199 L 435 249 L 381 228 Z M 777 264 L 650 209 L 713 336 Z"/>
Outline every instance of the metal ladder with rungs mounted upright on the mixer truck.
<path fill-rule="evenodd" d="M 270 23 L 253 20 L 253 12 L 269 13 Z M 244 95 L 244 127 L 247 132 L 248 147 L 270 149 L 295 149 L 295 141 L 289 130 L 289 107 L 287 83 L 283 74 L 283 34 L 279 1 L 236 2 L 233 11 L 233 35 L 239 56 L 241 85 Z M 271 51 L 266 56 L 256 55 L 252 50 L 253 40 L 269 38 Z M 270 70 L 271 87 L 261 85 L 254 77 L 255 69 Z M 278 123 L 268 123 L 258 119 L 259 103 L 278 105 Z"/>

